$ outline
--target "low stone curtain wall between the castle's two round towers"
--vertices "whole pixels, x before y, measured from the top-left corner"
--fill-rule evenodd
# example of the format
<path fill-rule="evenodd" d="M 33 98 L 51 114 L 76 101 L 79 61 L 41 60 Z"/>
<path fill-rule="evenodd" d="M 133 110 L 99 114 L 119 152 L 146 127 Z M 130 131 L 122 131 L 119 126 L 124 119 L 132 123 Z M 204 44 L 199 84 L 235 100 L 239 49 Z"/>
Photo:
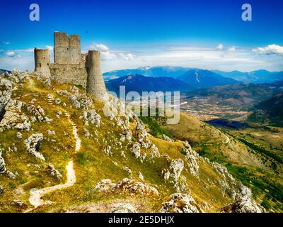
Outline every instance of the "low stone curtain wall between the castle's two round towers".
<path fill-rule="evenodd" d="M 76 84 L 86 88 L 87 73 L 84 64 L 51 64 L 51 79 L 63 84 Z"/>

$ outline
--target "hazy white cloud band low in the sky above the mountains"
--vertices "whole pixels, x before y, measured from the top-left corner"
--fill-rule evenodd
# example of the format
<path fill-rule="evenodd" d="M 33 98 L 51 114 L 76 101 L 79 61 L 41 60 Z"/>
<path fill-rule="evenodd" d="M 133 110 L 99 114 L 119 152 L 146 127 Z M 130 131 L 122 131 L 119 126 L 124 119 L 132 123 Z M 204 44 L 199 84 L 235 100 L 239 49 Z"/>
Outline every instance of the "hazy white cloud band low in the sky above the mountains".
<path fill-rule="evenodd" d="M 53 47 L 50 50 L 52 60 Z M 265 68 L 283 70 L 282 47 L 269 45 L 265 48 L 241 48 L 223 44 L 217 46 L 191 45 L 139 45 L 134 47 L 110 47 L 103 43 L 92 43 L 82 52 L 99 50 L 101 52 L 103 72 L 135 68 L 144 65 L 172 65 L 197 67 L 208 70 L 242 70 L 251 71 Z M 258 55 L 257 53 L 262 53 Z M 273 55 L 273 56 L 270 56 Z M 18 67 L 21 70 L 33 70 L 33 48 L 4 50 L 0 52 L 0 68 L 10 70 Z"/>

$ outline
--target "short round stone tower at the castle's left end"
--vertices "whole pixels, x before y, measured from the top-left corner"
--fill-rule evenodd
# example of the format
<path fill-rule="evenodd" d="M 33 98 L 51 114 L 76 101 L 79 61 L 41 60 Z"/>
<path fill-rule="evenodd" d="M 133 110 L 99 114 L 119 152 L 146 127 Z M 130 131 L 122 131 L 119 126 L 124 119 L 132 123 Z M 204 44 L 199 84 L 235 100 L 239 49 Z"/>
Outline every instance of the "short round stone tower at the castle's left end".
<path fill-rule="evenodd" d="M 50 54 L 48 49 L 35 48 L 35 72 L 50 77 Z"/>

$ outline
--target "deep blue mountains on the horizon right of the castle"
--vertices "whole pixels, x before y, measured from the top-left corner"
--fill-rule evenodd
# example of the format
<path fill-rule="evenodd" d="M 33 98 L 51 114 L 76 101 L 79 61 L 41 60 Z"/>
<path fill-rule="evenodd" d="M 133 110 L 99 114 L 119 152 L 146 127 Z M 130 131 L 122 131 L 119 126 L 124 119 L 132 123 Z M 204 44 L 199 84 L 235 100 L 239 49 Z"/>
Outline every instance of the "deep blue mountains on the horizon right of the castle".
<path fill-rule="evenodd" d="M 209 70 L 187 69 L 184 68 L 161 68 L 155 67 L 149 69 L 148 72 L 144 69 L 137 70 L 140 73 L 133 73 L 134 70 L 122 70 L 115 71 L 115 79 L 109 79 L 106 81 L 106 86 L 110 91 L 116 92 L 119 90 L 120 85 L 126 86 L 126 91 L 136 92 L 150 92 L 150 91 L 180 91 L 188 92 L 194 89 L 200 89 L 204 87 L 219 86 L 224 84 L 238 84 L 241 82 L 235 79 L 222 77 L 219 74 L 211 72 Z M 174 76 L 174 72 L 182 72 L 178 77 Z M 120 76 L 124 74 L 123 76 Z M 158 76 L 152 76 L 158 75 Z M 162 75 L 162 76 L 161 76 Z M 110 78 L 110 74 L 105 77 Z"/>

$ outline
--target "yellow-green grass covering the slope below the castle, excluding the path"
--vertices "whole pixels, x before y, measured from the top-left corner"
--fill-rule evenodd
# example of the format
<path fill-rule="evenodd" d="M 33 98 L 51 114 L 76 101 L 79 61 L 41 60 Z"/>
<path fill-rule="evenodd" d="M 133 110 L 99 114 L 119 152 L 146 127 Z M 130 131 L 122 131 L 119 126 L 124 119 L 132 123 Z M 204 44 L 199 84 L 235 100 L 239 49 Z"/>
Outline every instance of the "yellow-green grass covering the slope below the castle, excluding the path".
<path fill-rule="evenodd" d="M 32 129 L 21 131 L 22 137 L 19 138 L 18 129 L 1 128 L 0 148 L 6 163 L 6 172 L 0 174 L 0 186 L 4 189 L 0 195 L 1 212 L 108 212 L 121 201 L 132 204 L 137 211 L 158 212 L 163 202 L 176 192 L 190 194 L 201 211 L 219 212 L 227 204 L 241 199 L 241 183 L 230 177 L 221 166 L 199 157 L 183 141 L 161 139 L 162 127 L 152 128 L 152 123 L 147 122 L 144 128 L 135 116 L 107 117 L 103 114 L 104 104 L 86 95 L 81 87 L 50 83 L 33 72 L 18 72 L 24 78 L 21 80 L 15 74 L 6 78 L 14 83 L 11 99 L 25 102 L 18 114 L 30 119 Z M 44 116 L 52 121 L 46 118 L 39 121 L 38 115 L 33 121 L 35 113 L 29 107 L 32 104 L 37 110 L 44 109 Z M 94 110 L 96 114 L 93 114 Z M 6 107 L 4 119 L 8 118 L 7 113 Z M 16 113 L 13 114 L 16 116 Z M 97 122 L 98 115 L 100 123 Z M 91 119 L 93 116 L 96 120 Z M 176 128 L 166 127 L 168 135 L 188 139 L 192 143 L 222 143 L 226 139 L 212 126 L 185 114 L 181 116 Z M 81 141 L 77 152 L 74 130 Z M 132 138 L 125 139 L 125 132 L 129 131 Z M 155 133 L 151 135 L 146 131 Z M 45 160 L 35 157 L 26 148 L 25 140 L 34 133 L 43 134 L 43 140 L 35 151 Z M 134 151 L 134 145 L 141 147 L 140 157 L 137 150 Z M 206 154 L 210 152 L 203 152 L 209 157 Z M 30 189 L 67 182 L 66 165 L 70 160 L 74 162 L 76 182 L 70 187 L 45 194 L 42 197 L 45 202 L 40 206 L 30 204 Z M 50 163 L 62 174 L 62 178 L 50 175 L 47 171 Z M 170 173 L 168 178 L 166 172 Z M 142 191 L 144 189 L 136 191 L 135 187 L 127 189 L 125 185 L 96 190 L 103 179 L 110 179 L 116 184 L 125 177 L 142 182 L 151 190 L 154 187 L 158 195 Z M 262 195 L 257 197 L 257 201 L 262 203 Z M 183 205 L 177 203 L 176 206 Z"/>

